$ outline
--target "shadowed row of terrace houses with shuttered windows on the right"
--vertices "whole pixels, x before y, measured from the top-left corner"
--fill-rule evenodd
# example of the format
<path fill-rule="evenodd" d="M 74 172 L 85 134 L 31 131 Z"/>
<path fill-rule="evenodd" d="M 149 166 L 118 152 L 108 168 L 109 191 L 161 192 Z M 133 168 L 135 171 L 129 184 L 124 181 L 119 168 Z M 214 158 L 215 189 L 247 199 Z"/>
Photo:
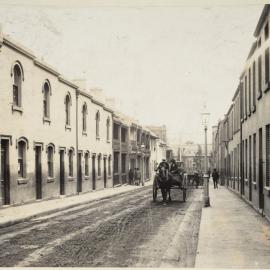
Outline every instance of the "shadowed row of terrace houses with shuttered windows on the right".
<path fill-rule="evenodd" d="M 270 5 L 256 26 L 250 53 L 225 119 L 215 133 L 216 164 L 226 185 L 270 218 Z"/>

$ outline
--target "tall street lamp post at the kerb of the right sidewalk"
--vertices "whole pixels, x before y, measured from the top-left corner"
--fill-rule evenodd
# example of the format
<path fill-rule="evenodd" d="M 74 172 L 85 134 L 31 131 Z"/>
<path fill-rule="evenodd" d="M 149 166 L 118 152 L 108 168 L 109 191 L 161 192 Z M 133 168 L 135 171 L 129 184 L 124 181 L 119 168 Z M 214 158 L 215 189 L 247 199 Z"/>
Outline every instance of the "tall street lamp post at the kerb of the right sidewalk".
<path fill-rule="evenodd" d="M 204 175 L 203 175 L 203 199 L 204 199 L 204 207 L 210 206 L 210 197 L 209 197 L 209 177 L 208 175 L 208 161 L 207 161 L 207 125 L 209 121 L 210 113 L 203 112 L 201 113 L 202 116 L 202 124 L 204 127 Z"/>

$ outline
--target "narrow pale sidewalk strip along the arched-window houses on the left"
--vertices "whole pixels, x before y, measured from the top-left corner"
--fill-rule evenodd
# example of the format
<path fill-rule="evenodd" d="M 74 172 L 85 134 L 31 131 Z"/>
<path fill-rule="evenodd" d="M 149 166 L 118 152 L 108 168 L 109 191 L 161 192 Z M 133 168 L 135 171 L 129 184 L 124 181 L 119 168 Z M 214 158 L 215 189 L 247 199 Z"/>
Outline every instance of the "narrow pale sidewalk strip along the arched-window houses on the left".
<path fill-rule="evenodd" d="M 145 182 L 145 186 L 152 185 L 152 181 Z M 29 220 L 42 214 L 51 214 L 91 201 L 110 198 L 122 193 L 143 188 L 142 186 L 119 186 L 98 191 L 90 191 L 79 195 L 61 197 L 44 201 L 27 203 L 19 206 L 0 208 L 0 228 Z"/>

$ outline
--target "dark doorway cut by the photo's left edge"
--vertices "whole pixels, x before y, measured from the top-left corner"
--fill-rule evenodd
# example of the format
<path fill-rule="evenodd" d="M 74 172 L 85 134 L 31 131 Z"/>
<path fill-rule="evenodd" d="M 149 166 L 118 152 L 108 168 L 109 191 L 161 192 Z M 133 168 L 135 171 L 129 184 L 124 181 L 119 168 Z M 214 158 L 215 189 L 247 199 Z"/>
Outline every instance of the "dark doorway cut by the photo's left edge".
<path fill-rule="evenodd" d="M 1 179 L 2 204 L 10 204 L 9 140 L 1 140 Z"/>

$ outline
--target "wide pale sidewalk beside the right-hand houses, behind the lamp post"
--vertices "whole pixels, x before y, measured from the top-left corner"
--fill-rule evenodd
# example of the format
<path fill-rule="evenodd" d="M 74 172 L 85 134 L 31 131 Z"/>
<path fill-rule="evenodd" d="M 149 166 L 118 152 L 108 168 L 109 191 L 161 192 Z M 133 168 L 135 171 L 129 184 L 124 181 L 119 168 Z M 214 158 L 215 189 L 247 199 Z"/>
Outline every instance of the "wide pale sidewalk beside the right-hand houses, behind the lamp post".
<path fill-rule="evenodd" d="M 241 198 L 209 187 L 203 208 L 195 267 L 270 268 L 270 224 Z"/>

